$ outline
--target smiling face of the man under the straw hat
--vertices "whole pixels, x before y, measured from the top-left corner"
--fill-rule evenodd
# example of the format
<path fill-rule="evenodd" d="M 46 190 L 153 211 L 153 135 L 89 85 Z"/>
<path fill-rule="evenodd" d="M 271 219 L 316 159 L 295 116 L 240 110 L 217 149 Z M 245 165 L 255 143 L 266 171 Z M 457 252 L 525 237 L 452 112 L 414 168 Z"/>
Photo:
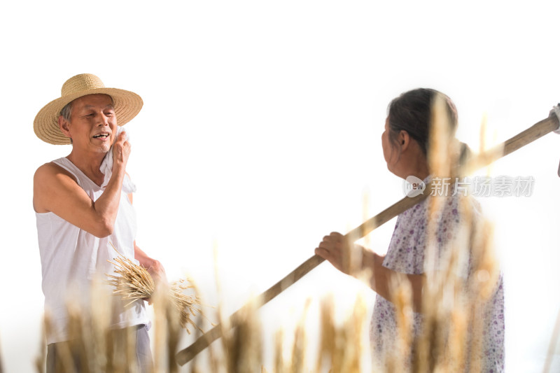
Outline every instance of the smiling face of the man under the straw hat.
<path fill-rule="evenodd" d="M 88 94 L 75 99 L 70 121 L 62 122 L 62 132 L 72 139 L 74 148 L 97 153 L 109 151 L 117 132 L 115 108 L 107 94 Z"/>

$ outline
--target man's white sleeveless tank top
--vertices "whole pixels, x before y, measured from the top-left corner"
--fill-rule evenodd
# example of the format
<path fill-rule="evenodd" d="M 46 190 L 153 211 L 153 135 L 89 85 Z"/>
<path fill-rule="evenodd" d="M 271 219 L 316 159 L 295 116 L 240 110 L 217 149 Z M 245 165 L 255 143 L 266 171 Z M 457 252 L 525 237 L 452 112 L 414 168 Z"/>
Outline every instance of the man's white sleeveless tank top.
<path fill-rule="evenodd" d="M 53 161 L 76 178 L 78 185 L 96 201 L 105 188 L 90 180 L 66 157 Z M 113 234 L 100 239 L 93 234 L 80 230 L 55 213 L 35 213 L 41 267 L 43 272 L 43 294 L 45 295 L 45 312 L 52 323 L 52 332 L 47 335 L 47 343 L 62 342 L 71 339 L 67 323 L 66 304 L 89 307 L 92 280 L 105 274 L 113 273 L 113 265 L 107 260 L 116 258 L 113 246 L 126 258 L 134 259 L 134 238 L 137 232 L 136 213 L 127 195 L 121 192 L 117 218 Z M 111 244 L 113 246 L 111 246 Z M 112 289 L 106 285 L 107 292 Z M 111 299 L 111 298 L 107 298 Z M 111 328 L 149 325 L 144 301 L 137 301 L 129 307 L 117 301 L 113 304 Z M 109 307 L 109 304 L 103 304 Z"/>

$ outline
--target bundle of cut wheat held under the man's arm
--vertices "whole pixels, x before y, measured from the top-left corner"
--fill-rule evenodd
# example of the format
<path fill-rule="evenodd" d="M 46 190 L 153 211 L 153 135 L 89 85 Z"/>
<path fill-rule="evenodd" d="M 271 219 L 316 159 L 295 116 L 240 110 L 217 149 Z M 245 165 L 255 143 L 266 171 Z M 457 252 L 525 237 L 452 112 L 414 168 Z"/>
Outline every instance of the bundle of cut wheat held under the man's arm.
<path fill-rule="evenodd" d="M 115 288 L 114 295 L 118 295 L 122 300 L 128 301 L 125 307 L 136 302 L 137 300 L 151 299 L 155 293 L 156 287 L 148 270 L 141 265 L 137 265 L 129 258 L 125 258 L 118 253 L 118 257 L 109 260 L 115 266 L 115 274 L 107 274 L 109 283 Z M 190 333 L 189 325 L 202 331 L 202 329 L 195 324 L 193 316 L 202 313 L 202 304 L 196 295 L 186 295 L 184 290 L 193 288 L 187 286 L 184 280 L 174 281 L 167 286 L 167 297 L 165 300 L 171 302 L 174 307 L 179 311 L 179 323 L 181 328 L 185 328 Z M 163 287 L 162 287 L 163 289 Z"/>

